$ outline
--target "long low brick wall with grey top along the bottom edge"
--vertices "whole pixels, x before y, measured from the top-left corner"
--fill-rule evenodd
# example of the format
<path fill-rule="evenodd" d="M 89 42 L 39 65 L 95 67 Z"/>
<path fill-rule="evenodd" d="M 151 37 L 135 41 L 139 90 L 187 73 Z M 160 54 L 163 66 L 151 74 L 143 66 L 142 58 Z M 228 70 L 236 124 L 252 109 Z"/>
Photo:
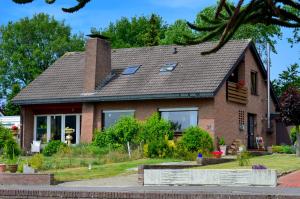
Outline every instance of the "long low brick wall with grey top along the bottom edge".
<path fill-rule="evenodd" d="M 299 199 L 296 189 L 277 188 L 224 188 L 224 187 L 96 187 L 63 188 L 51 186 L 0 187 L 0 198 L 54 199 L 54 198 L 106 198 L 106 199 Z"/>

